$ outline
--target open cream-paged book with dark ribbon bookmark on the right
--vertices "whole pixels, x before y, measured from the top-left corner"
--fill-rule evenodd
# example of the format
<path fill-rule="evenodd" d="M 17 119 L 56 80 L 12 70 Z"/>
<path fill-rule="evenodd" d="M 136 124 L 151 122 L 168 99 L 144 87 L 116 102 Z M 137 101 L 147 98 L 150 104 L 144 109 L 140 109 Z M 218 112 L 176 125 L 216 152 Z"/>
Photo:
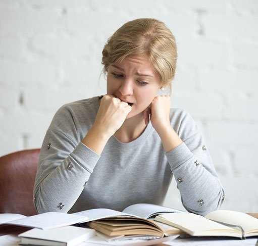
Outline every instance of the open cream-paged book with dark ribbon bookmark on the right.
<path fill-rule="evenodd" d="M 186 212 L 162 214 L 154 220 L 175 226 L 192 236 L 244 238 L 258 235 L 258 219 L 230 210 L 213 211 L 205 217 Z"/>

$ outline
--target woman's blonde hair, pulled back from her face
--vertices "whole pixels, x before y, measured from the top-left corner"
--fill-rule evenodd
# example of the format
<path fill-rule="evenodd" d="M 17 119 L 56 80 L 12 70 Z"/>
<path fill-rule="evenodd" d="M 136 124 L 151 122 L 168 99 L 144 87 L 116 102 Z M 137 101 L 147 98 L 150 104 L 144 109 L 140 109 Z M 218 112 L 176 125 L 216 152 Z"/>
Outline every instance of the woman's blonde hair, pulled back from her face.
<path fill-rule="evenodd" d="M 171 95 L 177 62 L 176 39 L 165 23 L 157 19 L 135 19 L 116 30 L 102 50 L 101 64 L 104 67 L 101 74 L 107 76 L 109 65 L 120 63 L 127 56 L 144 54 L 159 73 L 163 86 L 169 87 Z"/>

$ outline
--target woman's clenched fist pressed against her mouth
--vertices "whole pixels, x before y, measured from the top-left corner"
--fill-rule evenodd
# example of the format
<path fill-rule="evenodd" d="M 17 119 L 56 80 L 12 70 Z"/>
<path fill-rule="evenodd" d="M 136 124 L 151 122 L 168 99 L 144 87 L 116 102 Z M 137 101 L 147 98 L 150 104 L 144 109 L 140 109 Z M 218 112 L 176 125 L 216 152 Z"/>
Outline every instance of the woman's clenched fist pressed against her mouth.
<path fill-rule="evenodd" d="M 93 127 L 110 136 L 123 125 L 132 107 L 114 95 L 104 95 L 100 101 Z"/>

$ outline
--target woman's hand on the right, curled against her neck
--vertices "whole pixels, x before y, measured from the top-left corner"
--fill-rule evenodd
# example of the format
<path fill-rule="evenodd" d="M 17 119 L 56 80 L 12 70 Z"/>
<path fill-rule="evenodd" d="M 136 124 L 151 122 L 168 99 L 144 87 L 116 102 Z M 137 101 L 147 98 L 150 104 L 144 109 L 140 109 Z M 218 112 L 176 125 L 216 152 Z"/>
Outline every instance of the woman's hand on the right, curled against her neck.
<path fill-rule="evenodd" d="M 143 111 L 143 118 L 145 124 L 149 123 L 149 115 L 151 125 L 159 133 L 164 127 L 170 127 L 170 96 L 168 95 L 158 95 L 154 97 L 151 104 Z"/>

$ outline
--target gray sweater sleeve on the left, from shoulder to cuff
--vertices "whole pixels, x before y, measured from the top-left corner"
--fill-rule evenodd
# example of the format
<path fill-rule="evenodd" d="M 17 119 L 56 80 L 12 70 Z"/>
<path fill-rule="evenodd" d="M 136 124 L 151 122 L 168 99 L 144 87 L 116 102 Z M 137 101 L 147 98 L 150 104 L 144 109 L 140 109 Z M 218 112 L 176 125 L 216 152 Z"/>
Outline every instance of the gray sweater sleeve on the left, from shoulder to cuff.
<path fill-rule="evenodd" d="M 100 157 L 77 140 L 76 127 L 69 115 L 61 110 L 54 116 L 42 143 L 34 184 L 34 206 L 38 213 L 67 213 Z"/>

